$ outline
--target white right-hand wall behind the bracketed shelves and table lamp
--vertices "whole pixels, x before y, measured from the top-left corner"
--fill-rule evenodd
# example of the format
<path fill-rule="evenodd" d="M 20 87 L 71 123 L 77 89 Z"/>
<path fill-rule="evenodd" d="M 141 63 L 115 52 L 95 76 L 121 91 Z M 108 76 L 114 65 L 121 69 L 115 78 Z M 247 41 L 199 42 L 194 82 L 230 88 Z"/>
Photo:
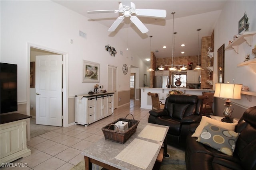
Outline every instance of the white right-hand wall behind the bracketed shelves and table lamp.
<path fill-rule="evenodd" d="M 256 31 L 256 1 L 227 1 L 224 6 L 220 18 L 214 28 L 214 80 L 217 82 L 217 50 L 222 45 L 228 46 L 228 41 L 233 39 L 234 35 L 238 34 L 238 21 L 244 16 L 246 12 L 249 18 L 249 31 Z M 225 72 L 224 82 L 230 81 L 233 83 L 244 84 L 250 87 L 250 91 L 256 91 L 256 73 L 250 70 L 248 66 L 238 67 L 237 64 L 245 60 L 245 55 L 250 54 L 250 59 L 255 56 L 252 55 L 252 49 L 256 45 L 256 35 L 253 37 L 253 45 L 250 47 L 243 43 L 239 47 L 239 54 L 234 50 L 225 51 Z M 247 96 L 248 97 L 248 96 Z M 256 97 L 252 96 L 252 101 L 248 101 L 246 95 L 241 95 L 241 100 L 232 100 L 233 104 L 248 108 L 256 106 Z M 224 106 L 219 106 L 224 109 Z M 222 109 L 222 110 L 223 110 Z"/>

